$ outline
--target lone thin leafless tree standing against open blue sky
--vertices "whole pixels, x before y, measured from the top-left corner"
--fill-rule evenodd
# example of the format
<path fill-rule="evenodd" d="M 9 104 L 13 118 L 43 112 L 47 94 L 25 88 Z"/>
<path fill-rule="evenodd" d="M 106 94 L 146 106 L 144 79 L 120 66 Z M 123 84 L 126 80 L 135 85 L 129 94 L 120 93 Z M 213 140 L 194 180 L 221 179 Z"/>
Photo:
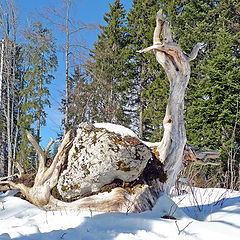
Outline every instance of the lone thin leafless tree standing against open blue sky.
<path fill-rule="evenodd" d="M 82 51 L 86 48 L 85 44 L 80 40 L 80 31 L 90 26 L 78 21 L 74 17 L 74 0 L 61 0 L 59 2 L 62 3 L 61 8 L 48 8 L 43 17 L 51 25 L 56 26 L 61 34 L 61 39 L 58 40 L 57 44 L 63 50 L 65 58 L 65 97 L 63 99 L 65 135 L 69 128 L 69 77 L 74 67 L 81 63 Z"/>

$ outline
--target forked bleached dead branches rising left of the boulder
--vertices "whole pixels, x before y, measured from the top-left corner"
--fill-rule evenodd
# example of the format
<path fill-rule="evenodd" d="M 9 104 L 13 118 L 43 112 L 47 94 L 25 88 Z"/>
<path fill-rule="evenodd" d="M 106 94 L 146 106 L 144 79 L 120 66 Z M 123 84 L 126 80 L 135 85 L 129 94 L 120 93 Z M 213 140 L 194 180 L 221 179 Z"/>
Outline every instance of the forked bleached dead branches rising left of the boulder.
<path fill-rule="evenodd" d="M 44 151 L 31 133 L 27 132 L 27 137 L 33 147 L 36 149 L 39 157 L 39 167 L 32 186 L 24 184 L 24 177 L 26 176 L 24 176 L 25 174 L 23 169 L 17 164 L 15 166 L 18 168 L 20 173 L 17 181 L 1 181 L 0 184 L 4 186 L 3 190 L 20 190 L 28 201 L 40 208 L 43 208 L 43 206 L 49 203 L 51 190 L 57 184 L 61 166 L 71 146 L 70 132 L 66 134 L 50 167 L 46 166 L 47 154 L 54 141 L 52 140 L 49 142 L 47 148 Z"/>

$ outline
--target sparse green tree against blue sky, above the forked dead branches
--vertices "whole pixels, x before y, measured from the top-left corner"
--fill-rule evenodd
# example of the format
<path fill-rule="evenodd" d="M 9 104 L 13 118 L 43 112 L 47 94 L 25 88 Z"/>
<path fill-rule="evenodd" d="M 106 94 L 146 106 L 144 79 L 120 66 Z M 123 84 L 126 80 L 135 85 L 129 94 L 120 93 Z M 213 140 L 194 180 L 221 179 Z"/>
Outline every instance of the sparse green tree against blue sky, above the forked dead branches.
<path fill-rule="evenodd" d="M 31 104 L 33 120 L 37 122 L 37 139 L 40 141 L 40 127 L 46 123 L 45 106 L 50 106 L 48 85 L 57 68 L 56 47 L 51 32 L 40 22 L 33 25 L 27 35 L 25 79 L 27 88 L 23 93 L 26 104 Z"/>

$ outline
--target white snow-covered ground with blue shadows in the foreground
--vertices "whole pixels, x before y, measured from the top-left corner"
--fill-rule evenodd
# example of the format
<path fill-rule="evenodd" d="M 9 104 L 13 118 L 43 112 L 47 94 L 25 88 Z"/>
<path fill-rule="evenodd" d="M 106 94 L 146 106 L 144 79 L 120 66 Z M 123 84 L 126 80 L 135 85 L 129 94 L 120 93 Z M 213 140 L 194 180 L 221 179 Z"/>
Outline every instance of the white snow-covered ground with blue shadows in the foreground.
<path fill-rule="evenodd" d="M 240 193 L 225 189 L 186 187 L 140 214 L 45 212 L 13 195 L 0 195 L 1 240 L 240 239 Z"/>

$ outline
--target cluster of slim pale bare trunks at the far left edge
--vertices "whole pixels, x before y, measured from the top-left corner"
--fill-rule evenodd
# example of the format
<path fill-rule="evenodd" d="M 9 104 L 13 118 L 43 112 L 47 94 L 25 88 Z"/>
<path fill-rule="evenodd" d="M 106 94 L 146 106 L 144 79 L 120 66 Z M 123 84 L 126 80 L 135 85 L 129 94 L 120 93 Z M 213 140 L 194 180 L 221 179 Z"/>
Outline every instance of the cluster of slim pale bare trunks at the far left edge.
<path fill-rule="evenodd" d="M 1 35 L 4 40 L 4 59 L 2 67 L 2 114 L 4 125 L 2 129 L 2 138 L 7 141 L 7 173 L 12 174 L 12 160 L 16 158 L 17 139 L 19 136 L 19 127 L 16 121 L 19 118 L 19 106 L 21 99 L 17 92 L 18 81 L 16 79 L 16 15 L 14 1 L 8 0 L 0 4 L 0 26 Z M 5 133 L 5 136 L 3 134 Z M 4 155 L 4 149 L 1 147 L 1 154 Z M 2 155 L 2 157 L 3 157 Z"/>

